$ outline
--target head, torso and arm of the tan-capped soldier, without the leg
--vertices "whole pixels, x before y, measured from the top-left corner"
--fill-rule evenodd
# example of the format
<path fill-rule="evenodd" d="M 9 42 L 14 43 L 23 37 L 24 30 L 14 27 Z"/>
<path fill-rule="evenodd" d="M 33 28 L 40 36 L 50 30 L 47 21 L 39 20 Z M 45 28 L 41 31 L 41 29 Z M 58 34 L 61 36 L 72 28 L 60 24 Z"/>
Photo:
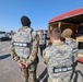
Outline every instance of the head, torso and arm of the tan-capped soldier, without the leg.
<path fill-rule="evenodd" d="M 74 52 L 74 55 L 73 55 L 73 56 L 74 56 L 74 57 L 73 57 L 73 62 L 76 62 L 79 49 L 78 49 L 76 40 L 73 39 L 73 38 L 71 38 L 71 36 L 72 36 L 72 30 L 71 30 L 71 28 L 66 28 L 66 30 L 62 32 L 61 36 L 64 37 L 64 38 L 66 38 L 64 42 L 66 42 L 68 45 L 70 45 L 73 50 L 75 50 L 75 52 Z"/>

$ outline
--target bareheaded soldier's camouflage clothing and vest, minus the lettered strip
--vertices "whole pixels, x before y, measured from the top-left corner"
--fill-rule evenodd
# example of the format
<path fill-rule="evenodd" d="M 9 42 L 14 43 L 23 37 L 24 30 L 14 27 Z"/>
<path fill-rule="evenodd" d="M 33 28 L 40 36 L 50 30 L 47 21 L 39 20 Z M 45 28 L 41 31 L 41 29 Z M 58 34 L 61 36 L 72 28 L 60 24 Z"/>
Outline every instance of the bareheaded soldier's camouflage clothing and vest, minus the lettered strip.
<path fill-rule="evenodd" d="M 61 67 L 70 67 L 72 62 L 72 48 L 67 44 L 59 44 L 59 45 L 51 45 L 45 49 L 44 59 L 47 62 L 47 69 L 49 79 L 51 82 L 59 82 L 59 81 L 69 81 L 72 74 L 72 69 L 70 71 L 62 71 L 54 73 L 54 67 L 61 68 Z"/>

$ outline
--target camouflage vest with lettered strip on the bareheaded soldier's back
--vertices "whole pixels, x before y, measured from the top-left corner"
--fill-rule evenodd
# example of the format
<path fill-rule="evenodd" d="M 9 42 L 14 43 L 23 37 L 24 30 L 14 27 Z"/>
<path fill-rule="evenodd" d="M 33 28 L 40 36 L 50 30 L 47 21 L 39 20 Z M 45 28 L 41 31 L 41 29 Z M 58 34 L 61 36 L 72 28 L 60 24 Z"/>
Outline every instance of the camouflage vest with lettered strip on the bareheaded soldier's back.
<path fill-rule="evenodd" d="M 58 81 L 70 79 L 73 69 L 72 49 L 67 45 L 63 45 L 62 49 L 58 49 L 52 45 L 49 52 L 47 69 L 50 78 Z"/>

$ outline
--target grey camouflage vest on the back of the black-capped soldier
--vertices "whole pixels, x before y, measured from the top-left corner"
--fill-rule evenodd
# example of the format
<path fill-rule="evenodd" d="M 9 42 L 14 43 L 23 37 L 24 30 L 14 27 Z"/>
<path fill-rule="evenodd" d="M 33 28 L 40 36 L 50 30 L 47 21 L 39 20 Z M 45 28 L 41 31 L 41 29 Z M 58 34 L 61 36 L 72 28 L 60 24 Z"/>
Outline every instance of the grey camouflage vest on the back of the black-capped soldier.
<path fill-rule="evenodd" d="M 32 32 L 31 27 L 17 31 L 13 36 L 13 46 L 19 57 L 27 58 L 32 50 Z"/>

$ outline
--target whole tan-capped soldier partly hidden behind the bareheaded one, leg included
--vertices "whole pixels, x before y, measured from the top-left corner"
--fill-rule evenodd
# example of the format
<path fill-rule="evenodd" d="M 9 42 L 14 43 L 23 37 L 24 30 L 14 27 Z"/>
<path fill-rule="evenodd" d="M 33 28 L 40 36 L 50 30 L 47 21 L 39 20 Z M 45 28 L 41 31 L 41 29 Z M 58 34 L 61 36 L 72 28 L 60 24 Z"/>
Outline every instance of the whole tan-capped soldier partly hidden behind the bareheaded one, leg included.
<path fill-rule="evenodd" d="M 66 38 L 66 43 L 73 49 L 73 72 L 72 72 L 72 75 L 71 75 L 71 80 L 72 80 L 72 77 L 73 77 L 73 73 L 75 71 L 75 67 L 78 66 L 78 58 L 79 58 L 79 48 L 78 48 L 78 45 L 76 45 L 76 40 L 71 38 L 72 36 L 72 30 L 70 28 L 67 28 L 63 31 L 62 33 L 62 37 Z"/>

